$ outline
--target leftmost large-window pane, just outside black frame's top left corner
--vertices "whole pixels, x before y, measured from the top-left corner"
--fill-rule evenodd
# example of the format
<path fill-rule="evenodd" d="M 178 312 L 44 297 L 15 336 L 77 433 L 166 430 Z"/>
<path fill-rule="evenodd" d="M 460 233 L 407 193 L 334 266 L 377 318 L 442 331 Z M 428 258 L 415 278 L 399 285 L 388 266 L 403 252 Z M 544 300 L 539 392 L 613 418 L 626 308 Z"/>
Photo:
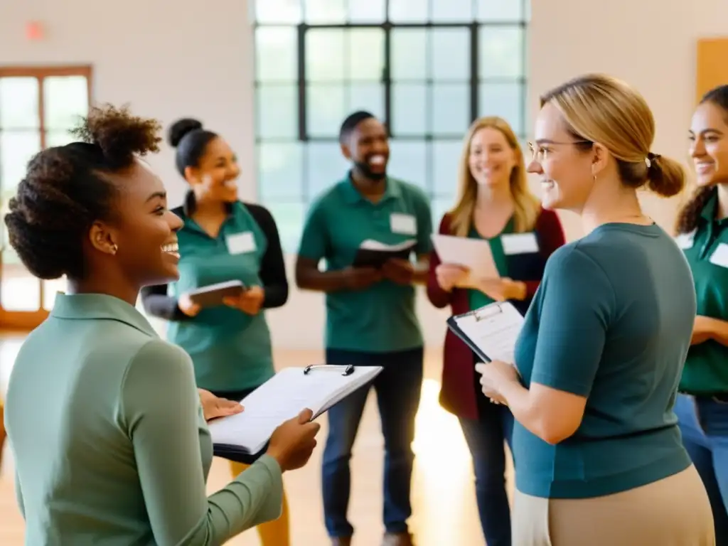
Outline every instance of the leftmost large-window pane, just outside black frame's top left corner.
<path fill-rule="evenodd" d="M 256 28 L 258 82 L 295 82 L 298 78 L 298 37 L 290 27 Z"/>

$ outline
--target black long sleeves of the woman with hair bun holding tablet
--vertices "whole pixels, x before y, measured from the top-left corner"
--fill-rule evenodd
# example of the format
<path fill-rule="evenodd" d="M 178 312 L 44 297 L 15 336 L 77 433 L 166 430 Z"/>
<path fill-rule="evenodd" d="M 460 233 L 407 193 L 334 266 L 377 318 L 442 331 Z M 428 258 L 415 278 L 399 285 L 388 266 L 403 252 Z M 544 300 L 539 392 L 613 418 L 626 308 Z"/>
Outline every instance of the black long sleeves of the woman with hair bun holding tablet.
<path fill-rule="evenodd" d="M 185 218 L 187 214 L 185 211 L 189 211 L 191 205 L 191 197 L 188 197 L 187 204 L 173 209 L 173 213 Z M 244 203 L 244 205 L 268 240 L 266 252 L 261 260 L 259 276 L 265 292 L 263 306 L 265 309 L 274 309 L 288 301 L 288 277 L 285 274 L 285 262 L 278 228 L 266 207 L 253 203 Z M 167 286 L 154 285 L 142 288 L 141 298 L 144 309 L 152 316 L 165 320 L 189 320 L 190 317 L 179 308 L 177 298 L 167 295 Z"/>

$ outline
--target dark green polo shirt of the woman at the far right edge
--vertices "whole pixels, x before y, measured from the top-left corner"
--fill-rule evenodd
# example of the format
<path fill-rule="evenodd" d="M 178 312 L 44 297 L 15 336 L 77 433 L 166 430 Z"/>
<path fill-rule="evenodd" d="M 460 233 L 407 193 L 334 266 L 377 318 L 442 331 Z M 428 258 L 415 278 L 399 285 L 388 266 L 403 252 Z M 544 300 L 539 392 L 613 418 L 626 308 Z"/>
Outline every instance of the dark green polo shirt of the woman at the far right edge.
<path fill-rule="evenodd" d="M 700 213 L 695 232 L 678 235 L 692 269 L 697 314 L 728 320 L 728 218 L 716 220 L 718 194 Z M 714 339 L 692 345 L 680 389 L 694 395 L 728 392 L 728 347 Z"/>

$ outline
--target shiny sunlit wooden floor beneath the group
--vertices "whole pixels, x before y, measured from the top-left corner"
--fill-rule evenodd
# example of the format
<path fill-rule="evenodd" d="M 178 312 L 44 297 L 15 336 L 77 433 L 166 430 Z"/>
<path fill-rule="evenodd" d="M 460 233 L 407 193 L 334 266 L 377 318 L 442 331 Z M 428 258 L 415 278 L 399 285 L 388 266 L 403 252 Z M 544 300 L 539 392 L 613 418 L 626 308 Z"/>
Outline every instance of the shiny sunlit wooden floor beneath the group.
<path fill-rule="evenodd" d="M 0 386 L 4 387 L 22 339 L 0 341 Z M 416 467 L 413 483 L 411 529 L 417 546 L 483 546 L 475 506 L 470 458 L 456 419 L 438 405 L 440 352 L 427 355 L 422 403 L 417 416 Z M 282 352 L 279 366 L 306 365 L 321 360 L 309 352 Z M 326 428 L 322 420 L 320 446 Z M 349 516 L 355 526 L 355 546 L 378 546 L 381 524 L 382 440 L 376 400 L 369 397 L 352 458 L 352 499 Z M 328 545 L 320 503 L 320 458 L 317 448 L 308 466 L 285 475 L 291 512 L 293 546 Z M 509 469 L 509 494 L 513 491 L 513 470 Z M 215 459 L 208 482 L 212 493 L 229 480 L 226 462 Z M 227 543 L 257 546 L 251 530 Z M 6 450 L 0 471 L 0 545 L 23 545 L 23 520 L 15 506 L 12 459 Z"/>

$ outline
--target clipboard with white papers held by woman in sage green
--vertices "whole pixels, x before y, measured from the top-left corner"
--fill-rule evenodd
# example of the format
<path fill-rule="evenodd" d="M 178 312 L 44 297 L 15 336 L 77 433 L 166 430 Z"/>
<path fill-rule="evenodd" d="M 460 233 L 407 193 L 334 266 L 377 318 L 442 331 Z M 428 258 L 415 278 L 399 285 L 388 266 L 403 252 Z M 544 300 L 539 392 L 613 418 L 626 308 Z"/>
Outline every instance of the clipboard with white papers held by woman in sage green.
<path fill-rule="evenodd" d="M 284 368 L 243 400 L 242 414 L 210 422 L 215 455 L 252 462 L 262 454 L 273 431 L 308 408 L 313 419 L 364 387 L 380 366 L 310 365 Z"/>

